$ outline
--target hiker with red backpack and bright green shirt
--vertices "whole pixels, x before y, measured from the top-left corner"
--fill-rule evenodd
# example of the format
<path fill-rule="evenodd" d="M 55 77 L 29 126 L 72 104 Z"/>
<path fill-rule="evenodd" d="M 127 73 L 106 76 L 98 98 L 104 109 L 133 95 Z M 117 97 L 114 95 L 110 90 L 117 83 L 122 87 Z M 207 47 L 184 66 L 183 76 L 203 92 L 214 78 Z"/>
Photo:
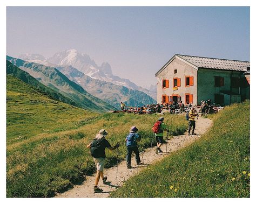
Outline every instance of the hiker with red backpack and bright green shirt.
<path fill-rule="evenodd" d="M 163 144 L 164 130 L 169 132 L 164 123 L 164 117 L 159 117 L 158 121 L 154 123 L 152 130 L 157 141 L 156 154 L 162 153 L 163 151 L 161 151 L 160 146 Z"/>

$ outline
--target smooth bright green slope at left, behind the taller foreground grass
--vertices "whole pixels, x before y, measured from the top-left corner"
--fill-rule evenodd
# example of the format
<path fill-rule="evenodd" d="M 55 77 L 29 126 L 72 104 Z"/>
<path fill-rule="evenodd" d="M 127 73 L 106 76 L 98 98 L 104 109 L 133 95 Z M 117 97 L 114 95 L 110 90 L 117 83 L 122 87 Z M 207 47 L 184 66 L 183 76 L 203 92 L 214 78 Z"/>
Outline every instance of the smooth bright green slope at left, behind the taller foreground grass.
<path fill-rule="evenodd" d="M 76 127 L 98 114 L 51 99 L 23 81 L 7 74 L 7 144 Z"/>

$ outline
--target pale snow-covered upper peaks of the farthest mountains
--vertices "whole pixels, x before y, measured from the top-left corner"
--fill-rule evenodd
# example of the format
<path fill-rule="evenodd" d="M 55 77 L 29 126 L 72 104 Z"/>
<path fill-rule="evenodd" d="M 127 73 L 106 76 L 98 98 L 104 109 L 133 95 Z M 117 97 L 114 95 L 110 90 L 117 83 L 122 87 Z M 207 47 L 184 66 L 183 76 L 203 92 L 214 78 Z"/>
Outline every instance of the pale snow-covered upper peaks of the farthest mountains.
<path fill-rule="evenodd" d="M 32 56 L 34 56 L 34 55 L 33 54 L 24 55 L 24 57 L 26 57 L 26 58 L 29 57 L 29 60 L 32 60 L 31 59 Z M 35 57 L 37 57 L 37 55 L 35 55 Z M 24 59 L 24 58 L 22 58 L 22 59 Z M 41 58 L 41 59 L 43 59 L 43 58 Z M 28 60 L 28 59 L 26 59 L 26 60 Z M 78 71 L 84 73 L 85 75 L 90 76 L 90 78 L 92 78 L 92 79 L 98 79 L 98 80 L 110 82 L 110 83 L 113 83 L 114 85 L 118 85 L 118 86 L 125 86 L 125 87 L 133 89 L 133 90 L 140 90 L 156 100 L 156 91 L 155 90 L 152 91 L 152 90 L 148 90 L 143 87 L 139 87 L 135 83 L 131 82 L 129 79 L 122 79 L 119 76 L 113 75 L 111 66 L 107 62 L 103 62 L 102 65 L 98 66 L 96 64 L 96 62 L 90 58 L 89 55 L 84 54 L 84 53 L 79 53 L 75 49 L 58 52 L 58 53 L 54 54 L 52 57 L 45 59 L 43 61 L 50 63 L 47 66 L 53 66 L 53 65 L 55 67 L 57 67 L 57 66 L 62 66 L 62 67 L 72 66 L 72 67 L 78 69 Z M 33 61 L 33 62 L 36 62 L 36 61 Z M 45 62 L 37 62 L 37 63 L 43 64 Z"/>

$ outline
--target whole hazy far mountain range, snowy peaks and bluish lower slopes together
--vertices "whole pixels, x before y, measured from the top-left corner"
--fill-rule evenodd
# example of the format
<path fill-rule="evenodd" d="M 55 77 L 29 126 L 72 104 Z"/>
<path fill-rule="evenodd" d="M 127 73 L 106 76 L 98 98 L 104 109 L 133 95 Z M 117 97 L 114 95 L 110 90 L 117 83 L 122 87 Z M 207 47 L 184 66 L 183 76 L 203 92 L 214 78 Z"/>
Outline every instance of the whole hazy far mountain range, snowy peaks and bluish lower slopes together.
<path fill-rule="evenodd" d="M 148 90 L 128 79 L 114 76 L 107 62 L 98 66 L 89 55 L 76 50 L 58 52 L 48 59 L 40 54 L 23 54 L 20 57 L 29 62 L 56 67 L 87 92 L 116 108 L 119 108 L 120 101 L 132 107 L 156 103 L 156 86 Z"/>

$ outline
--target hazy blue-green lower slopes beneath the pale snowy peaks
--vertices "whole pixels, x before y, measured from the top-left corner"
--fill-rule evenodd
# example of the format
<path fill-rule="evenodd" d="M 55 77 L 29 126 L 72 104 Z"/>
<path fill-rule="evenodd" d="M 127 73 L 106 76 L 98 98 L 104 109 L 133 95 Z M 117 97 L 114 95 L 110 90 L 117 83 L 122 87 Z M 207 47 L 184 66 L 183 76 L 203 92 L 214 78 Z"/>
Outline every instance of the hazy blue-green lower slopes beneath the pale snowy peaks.
<path fill-rule="evenodd" d="M 114 85 L 78 71 L 72 66 L 56 67 L 65 74 L 71 81 L 82 86 L 88 93 L 99 99 L 112 104 L 115 108 L 120 108 L 120 101 L 123 101 L 128 107 L 142 107 L 146 104 L 156 104 L 156 100 L 139 90 L 126 88 L 125 86 Z"/>

